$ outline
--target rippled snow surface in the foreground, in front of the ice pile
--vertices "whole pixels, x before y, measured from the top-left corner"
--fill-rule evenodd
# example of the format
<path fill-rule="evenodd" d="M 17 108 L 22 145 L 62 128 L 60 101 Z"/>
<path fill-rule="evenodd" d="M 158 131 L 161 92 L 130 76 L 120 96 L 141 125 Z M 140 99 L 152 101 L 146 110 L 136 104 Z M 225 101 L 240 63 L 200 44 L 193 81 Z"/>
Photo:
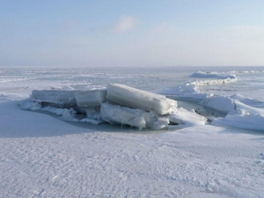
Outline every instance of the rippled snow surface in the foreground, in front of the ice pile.
<path fill-rule="evenodd" d="M 2 197 L 264 196 L 263 134 L 103 132 L 17 103 L 0 103 Z"/>

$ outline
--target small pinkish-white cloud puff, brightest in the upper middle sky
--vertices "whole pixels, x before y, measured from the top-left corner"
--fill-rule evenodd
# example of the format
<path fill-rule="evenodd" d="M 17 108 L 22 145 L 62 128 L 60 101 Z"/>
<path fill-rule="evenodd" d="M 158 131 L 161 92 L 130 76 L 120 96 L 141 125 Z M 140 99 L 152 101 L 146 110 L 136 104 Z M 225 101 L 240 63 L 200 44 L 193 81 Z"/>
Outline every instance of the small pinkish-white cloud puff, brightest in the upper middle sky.
<path fill-rule="evenodd" d="M 114 32 L 127 32 L 133 29 L 135 23 L 136 20 L 132 16 L 121 16 L 113 30 Z"/>

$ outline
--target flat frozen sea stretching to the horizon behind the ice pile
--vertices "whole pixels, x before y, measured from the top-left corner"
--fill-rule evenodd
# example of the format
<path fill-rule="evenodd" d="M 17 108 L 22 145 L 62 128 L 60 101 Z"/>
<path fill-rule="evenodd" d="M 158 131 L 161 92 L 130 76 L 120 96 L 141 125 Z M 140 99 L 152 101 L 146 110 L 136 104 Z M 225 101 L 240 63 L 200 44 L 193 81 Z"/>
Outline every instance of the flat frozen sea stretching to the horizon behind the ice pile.
<path fill-rule="evenodd" d="M 201 92 L 264 100 L 264 67 L 171 67 L 171 68 L 0 68 L 1 94 L 31 94 L 32 89 L 88 89 L 108 83 L 129 85 L 150 92 L 179 87 L 191 74 L 234 73 L 237 82 L 201 87 Z"/>

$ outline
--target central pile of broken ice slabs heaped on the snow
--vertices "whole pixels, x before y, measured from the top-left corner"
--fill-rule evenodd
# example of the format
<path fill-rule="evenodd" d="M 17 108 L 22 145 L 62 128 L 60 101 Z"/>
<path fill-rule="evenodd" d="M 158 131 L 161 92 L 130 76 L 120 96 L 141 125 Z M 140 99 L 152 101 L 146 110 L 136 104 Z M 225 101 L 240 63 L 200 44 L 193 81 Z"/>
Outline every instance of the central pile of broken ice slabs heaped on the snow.
<path fill-rule="evenodd" d="M 34 90 L 30 99 L 24 102 L 23 109 L 49 111 L 67 121 L 106 122 L 140 130 L 161 130 L 176 125 L 176 128 L 184 128 L 204 125 L 207 121 L 195 111 L 177 109 L 175 100 L 120 84 L 87 91 Z"/>

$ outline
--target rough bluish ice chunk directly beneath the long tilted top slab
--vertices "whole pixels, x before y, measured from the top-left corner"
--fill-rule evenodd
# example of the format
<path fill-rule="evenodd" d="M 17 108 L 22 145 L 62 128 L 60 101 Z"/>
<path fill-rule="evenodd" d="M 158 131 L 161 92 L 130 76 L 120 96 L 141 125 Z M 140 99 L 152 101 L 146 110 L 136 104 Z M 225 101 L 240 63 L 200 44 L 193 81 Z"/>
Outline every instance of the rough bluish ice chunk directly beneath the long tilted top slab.
<path fill-rule="evenodd" d="M 140 109 L 130 109 L 112 104 L 102 104 L 100 111 L 101 118 L 108 123 L 131 125 L 139 130 L 146 128 L 145 113 L 147 112 Z"/>

